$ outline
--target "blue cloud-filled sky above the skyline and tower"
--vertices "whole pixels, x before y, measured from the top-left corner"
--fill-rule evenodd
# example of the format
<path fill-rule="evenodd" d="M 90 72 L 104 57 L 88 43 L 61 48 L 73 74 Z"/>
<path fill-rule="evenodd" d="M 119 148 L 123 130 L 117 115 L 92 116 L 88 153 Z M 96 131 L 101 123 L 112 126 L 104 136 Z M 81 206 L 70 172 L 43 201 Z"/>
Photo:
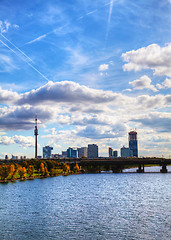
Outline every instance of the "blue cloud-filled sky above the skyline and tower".
<path fill-rule="evenodd" d="M 0 0 L 0 158 L 171 156 L 171 0 Z"/>

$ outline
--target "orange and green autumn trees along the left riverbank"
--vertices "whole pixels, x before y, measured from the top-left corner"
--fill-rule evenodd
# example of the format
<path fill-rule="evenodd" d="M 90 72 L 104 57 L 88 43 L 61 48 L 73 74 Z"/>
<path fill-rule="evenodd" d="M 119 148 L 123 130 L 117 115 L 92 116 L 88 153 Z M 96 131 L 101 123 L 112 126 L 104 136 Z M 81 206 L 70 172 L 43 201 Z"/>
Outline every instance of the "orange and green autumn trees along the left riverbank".
<path fill-rule="evenodd" d="M 6 161 L 0 165 L 0 183 L 61 175 L 66 176 L 75 173 L 80 173 L 77 163 L 71 169 L 66 163 L 60 163 L 55 160 Z"/>

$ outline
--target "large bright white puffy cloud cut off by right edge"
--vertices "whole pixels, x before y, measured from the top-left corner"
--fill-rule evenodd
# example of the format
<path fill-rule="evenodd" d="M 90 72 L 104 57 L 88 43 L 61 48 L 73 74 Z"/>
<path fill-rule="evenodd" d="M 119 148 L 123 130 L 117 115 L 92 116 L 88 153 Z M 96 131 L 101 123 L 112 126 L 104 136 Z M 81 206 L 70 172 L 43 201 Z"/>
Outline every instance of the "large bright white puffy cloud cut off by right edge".
<path fill-rule="evenodd" d="M 171 77 L 171 43 L 165 47 L 151 44 L 138 50 L 132 50 L 122 54 L 125 62 L 124 71 L 139 71 L 152 69 L 154 75 L 166 75 Z"/>

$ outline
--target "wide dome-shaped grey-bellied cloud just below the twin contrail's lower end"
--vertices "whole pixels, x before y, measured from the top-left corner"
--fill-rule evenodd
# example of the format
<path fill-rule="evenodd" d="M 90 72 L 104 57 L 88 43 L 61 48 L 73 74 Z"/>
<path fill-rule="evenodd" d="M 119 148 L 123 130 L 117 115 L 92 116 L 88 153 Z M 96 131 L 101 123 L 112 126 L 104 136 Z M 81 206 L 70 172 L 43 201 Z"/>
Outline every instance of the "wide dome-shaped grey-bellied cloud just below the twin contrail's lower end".
<path fill-rule="evenodd" d="M 107 103 L 116 100 L 119 94 L 81 86 L 75 82 L 48 82 L 31 92 L 21 94 L 18 104 L 42 104 L 44 102 Z"/>

